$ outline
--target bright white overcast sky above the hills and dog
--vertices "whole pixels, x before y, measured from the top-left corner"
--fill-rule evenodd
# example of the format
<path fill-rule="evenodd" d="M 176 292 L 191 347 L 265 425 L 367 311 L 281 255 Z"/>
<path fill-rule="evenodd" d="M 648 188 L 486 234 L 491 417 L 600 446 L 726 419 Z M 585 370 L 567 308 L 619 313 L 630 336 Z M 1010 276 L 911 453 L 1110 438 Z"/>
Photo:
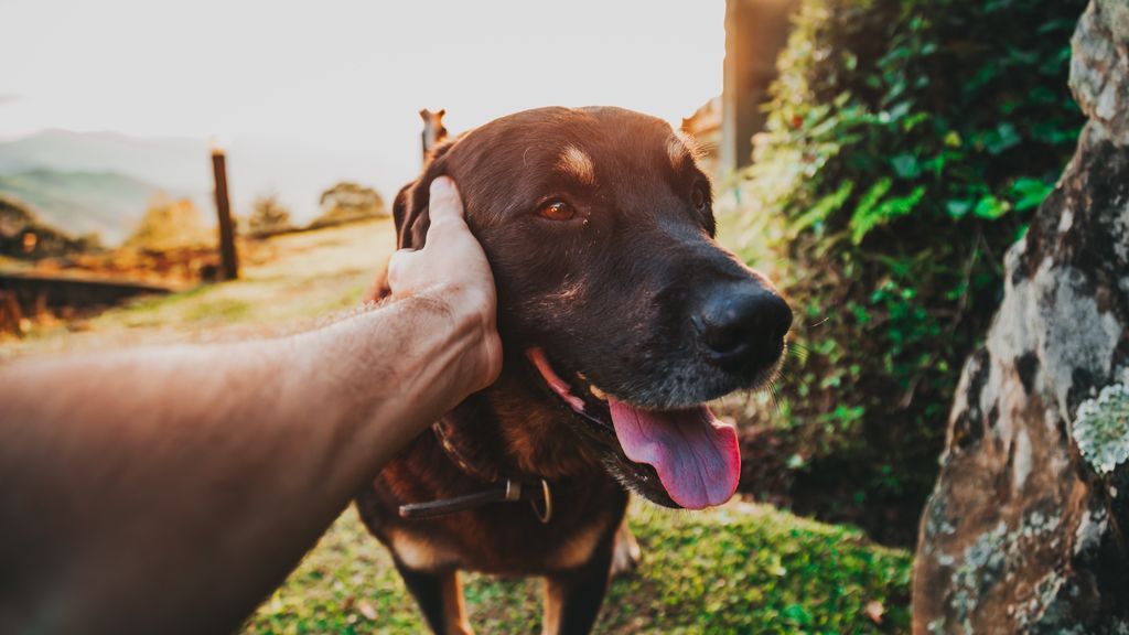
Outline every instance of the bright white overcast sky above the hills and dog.
<path fill-rule="evenodd" d="M 390 197 L 419 171 L 423 107 L 454 132 L 542 105 L 680 121 L 721 90 L 724 15 L 724 0 L 0 0 L 0 138 L 218 137 L 233 157 L 269 141 Z"/>

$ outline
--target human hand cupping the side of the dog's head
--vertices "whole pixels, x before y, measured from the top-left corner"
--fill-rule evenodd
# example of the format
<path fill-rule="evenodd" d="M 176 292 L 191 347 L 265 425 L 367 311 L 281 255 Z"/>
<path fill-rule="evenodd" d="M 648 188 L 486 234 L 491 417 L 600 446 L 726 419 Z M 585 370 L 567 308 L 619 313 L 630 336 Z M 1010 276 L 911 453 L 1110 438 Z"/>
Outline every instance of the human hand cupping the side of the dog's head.
<path fill-rule="evenodd" d="M 443 305 L 454 319 L 452 327 L 466 330 L 469 350 L 454 371 L 465 377 L 469 394 L 493 383 L 501 371 L 493 273 L 466 226 L 463 201 L 450 179 L 431 182 L 428 214 L 423 249 L 392 254 L 388 288 L 394 296 L 427 297 Z"/>

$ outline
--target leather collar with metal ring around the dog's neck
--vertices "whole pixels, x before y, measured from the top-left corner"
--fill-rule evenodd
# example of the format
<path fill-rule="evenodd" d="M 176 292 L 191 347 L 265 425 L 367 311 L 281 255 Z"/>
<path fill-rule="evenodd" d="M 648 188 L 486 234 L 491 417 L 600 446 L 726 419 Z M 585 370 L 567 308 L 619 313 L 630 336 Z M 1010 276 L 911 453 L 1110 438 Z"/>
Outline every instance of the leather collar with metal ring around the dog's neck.
<path fill-rule="evenodd" d="M 426 503 L 409 503 L 400 506 L 400 517 L 430 519 L 481 507 L 489 503 L 516 503 L 528 501 L 533 513 L 542 523 L 549 523 L 553 517 L 553 494 L 545 479 L 522 481 L 518 479 L 499 479 L 495 472 L 475 466 L 446 433 L 443 419 L 431 426 L 439 447 L 455 466 L 474 478 L 492 484 L 490 487 L 472 494 L 439 498 Z"/>

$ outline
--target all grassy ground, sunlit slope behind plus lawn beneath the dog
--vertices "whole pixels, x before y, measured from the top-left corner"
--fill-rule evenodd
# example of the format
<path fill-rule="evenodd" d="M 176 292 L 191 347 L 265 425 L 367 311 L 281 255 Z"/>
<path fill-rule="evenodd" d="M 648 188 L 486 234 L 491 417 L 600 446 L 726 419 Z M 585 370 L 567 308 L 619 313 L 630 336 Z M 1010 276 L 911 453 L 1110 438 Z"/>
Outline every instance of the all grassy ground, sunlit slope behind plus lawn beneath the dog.
<path fill-rule="evenodd" d="M 0 359 L 121 345 L 215 341 L 310 328 L 356 306 L 387 256 L 387 220 L 274 237 L 244 250 L 237 282 L 142 299 L 0 341 Z M 734 502 L 630 511 L 644 562 L 613 583 L 598 633 L 904 633 L 910 556 L 846 527 Z M 536 581 L 470 576 L 480 633 L 536 633 Z M 245 626 L 246 634 L 420 633 L 387 554 L 345 511 Z"/>

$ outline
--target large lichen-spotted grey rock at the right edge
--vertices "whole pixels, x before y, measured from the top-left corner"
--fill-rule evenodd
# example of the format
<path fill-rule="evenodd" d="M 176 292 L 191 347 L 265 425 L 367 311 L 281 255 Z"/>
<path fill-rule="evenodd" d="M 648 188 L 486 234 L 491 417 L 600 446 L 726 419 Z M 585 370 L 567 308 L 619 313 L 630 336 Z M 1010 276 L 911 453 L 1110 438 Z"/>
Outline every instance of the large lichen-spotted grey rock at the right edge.
<path fill-rule="evenodd" d="M 1073 44 L 1089 121 L 964 367 L 914 633 L 1129 633 L 1129 0 L 1093 0 Z"/>

